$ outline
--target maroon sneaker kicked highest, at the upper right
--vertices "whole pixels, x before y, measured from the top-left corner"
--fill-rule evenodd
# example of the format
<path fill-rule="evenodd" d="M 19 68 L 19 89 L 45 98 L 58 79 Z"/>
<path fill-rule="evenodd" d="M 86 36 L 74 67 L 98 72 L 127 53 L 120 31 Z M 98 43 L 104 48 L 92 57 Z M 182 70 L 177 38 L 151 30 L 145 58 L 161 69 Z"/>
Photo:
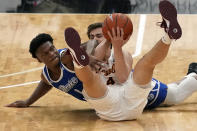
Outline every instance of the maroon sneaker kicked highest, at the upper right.
<path fill-rule="evenodd" d="M 159 3 L 159 11 L 163 17 L 160 27 L 164 28 L 171 39 L 179 39 L 182 35 L 182 30 L 177 20 L 175 6 L 167 0 L 163 0 Z"/>

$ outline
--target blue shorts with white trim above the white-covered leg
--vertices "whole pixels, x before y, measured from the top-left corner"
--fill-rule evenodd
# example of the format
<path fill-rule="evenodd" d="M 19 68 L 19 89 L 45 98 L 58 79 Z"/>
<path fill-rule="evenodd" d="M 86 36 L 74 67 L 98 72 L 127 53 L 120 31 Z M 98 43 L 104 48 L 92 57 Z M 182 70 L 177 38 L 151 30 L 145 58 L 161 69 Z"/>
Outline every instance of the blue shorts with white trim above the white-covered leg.
<path fill-rule="evenodd" d="M 161 103 L 164 102 L 167 96 L 167 85 L 154 78 L 152 79 L 152 81 L 155 83 L 155 86 L 148 95 L 148 103 L 145 109 L 153 109 L 158 107 Z"/>

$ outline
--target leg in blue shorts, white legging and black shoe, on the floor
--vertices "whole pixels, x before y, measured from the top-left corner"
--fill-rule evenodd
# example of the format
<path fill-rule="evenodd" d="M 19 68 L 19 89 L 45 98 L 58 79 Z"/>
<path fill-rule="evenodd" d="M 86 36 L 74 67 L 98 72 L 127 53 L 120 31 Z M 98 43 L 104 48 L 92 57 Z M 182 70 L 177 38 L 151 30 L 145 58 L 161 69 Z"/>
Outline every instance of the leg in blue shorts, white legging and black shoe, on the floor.
<path fill-rule="evenodd" d="M 147 109 L 159 107 L 160 105 L 174 105 L 183 102 L 186 98 L 197 91 L 197 63 L 191 63 L 188 75 L 182 80 L 168 85 L 152 79 L 154 88 L 148 96 Z"/>

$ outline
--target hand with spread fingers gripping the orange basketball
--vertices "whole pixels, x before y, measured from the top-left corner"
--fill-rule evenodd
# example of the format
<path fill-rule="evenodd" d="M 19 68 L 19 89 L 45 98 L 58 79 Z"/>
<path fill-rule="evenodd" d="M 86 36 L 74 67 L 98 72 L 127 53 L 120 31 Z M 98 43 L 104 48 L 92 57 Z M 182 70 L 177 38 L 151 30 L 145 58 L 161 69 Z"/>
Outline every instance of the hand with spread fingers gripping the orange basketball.
<path fill-rule="evenodd" d="M 112 28 L 112 34 L 108 31 L 108 35 L 111 39 L 111 43 L 114 48 L 122 48 L 122 46 L 127 43 L 130 36 L 127 37 L 126 40 L 123 39 L 124 31 L 122 28 L 117 27 L 116 31 Z"/>

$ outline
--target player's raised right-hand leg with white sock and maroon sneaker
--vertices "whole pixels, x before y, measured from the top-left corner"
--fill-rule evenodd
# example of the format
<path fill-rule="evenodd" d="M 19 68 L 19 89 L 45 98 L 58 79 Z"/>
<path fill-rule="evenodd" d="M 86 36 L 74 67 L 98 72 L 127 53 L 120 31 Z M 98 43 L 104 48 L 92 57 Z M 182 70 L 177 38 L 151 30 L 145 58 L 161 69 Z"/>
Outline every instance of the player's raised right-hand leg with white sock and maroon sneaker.
<path fill-rule="evenodd" d="M 145 85 L 151 81 L 155 66 L 162 62 L 168 54 L 172 40 L 179 39 L 182 35 L 177 21 L 176 8 L 168 1 L 161 1 L 159 9 L 163 17 L 161 27 L 165 29 L 166 34 L 136 64 L 133 79 L 139 85 Z"/>

